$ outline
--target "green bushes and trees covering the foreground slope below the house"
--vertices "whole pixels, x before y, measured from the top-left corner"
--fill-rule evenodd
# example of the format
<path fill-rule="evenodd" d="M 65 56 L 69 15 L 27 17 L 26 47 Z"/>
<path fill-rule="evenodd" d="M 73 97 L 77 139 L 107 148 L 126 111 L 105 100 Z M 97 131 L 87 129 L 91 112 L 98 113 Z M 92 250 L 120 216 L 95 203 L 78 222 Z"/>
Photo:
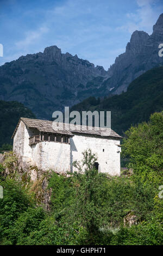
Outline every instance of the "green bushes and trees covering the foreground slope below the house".
<path fill-rule="evenodd" d="M 36 201 L 26 179 L 16 172 L 12 179 L 3 176 L 5 164 L 10 168 L 9 160 L 14 161 L 5 159 L 0 165 L 0 244 L 162 245 L 162 146 L 163 112 L 126 132 L 122 154 L 130 162 L 120 177 L 98 173 L 96 155 L 84 151 L 83 161 L 73 163 L 78 173 L 47 175 L 50 211 Z"/>

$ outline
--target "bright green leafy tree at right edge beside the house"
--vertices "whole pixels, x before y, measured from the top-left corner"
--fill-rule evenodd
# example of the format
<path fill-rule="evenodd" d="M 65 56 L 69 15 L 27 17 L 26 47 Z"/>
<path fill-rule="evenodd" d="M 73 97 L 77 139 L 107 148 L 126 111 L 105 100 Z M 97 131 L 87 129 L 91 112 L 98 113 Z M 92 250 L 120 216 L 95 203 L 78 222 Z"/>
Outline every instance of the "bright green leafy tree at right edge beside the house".
<path fill-rule="evenodd" d="M 122 144 L 123 156 L 130 157 L 129 167 L 142 182 L 162 181 L 163 112 L 151 115 L 148 123 L 131 126 Z M 160 184 L 162 185 L 162 184 Z"/>

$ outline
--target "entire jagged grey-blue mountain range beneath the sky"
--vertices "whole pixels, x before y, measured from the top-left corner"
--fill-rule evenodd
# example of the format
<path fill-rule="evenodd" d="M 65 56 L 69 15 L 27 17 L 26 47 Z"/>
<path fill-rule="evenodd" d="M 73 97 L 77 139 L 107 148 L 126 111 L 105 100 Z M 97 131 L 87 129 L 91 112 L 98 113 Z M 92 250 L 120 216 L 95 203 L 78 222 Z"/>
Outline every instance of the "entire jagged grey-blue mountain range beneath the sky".
<path fill-rule="evenodd" d="M 63 54 L 57 46 L 46 47 L 43 53 L 27 54 L 0 67 L 0 100 L 21 102 L 37 118 L 50 119 L 54 111 L 89 96 L 121 94 L 135 78 L 163 64 L 158 54 L 162 42 L 163 14 L 152 35 L 143 31 L 131 35 L 126 52 L 108 71 L 77 55 Z"/>

